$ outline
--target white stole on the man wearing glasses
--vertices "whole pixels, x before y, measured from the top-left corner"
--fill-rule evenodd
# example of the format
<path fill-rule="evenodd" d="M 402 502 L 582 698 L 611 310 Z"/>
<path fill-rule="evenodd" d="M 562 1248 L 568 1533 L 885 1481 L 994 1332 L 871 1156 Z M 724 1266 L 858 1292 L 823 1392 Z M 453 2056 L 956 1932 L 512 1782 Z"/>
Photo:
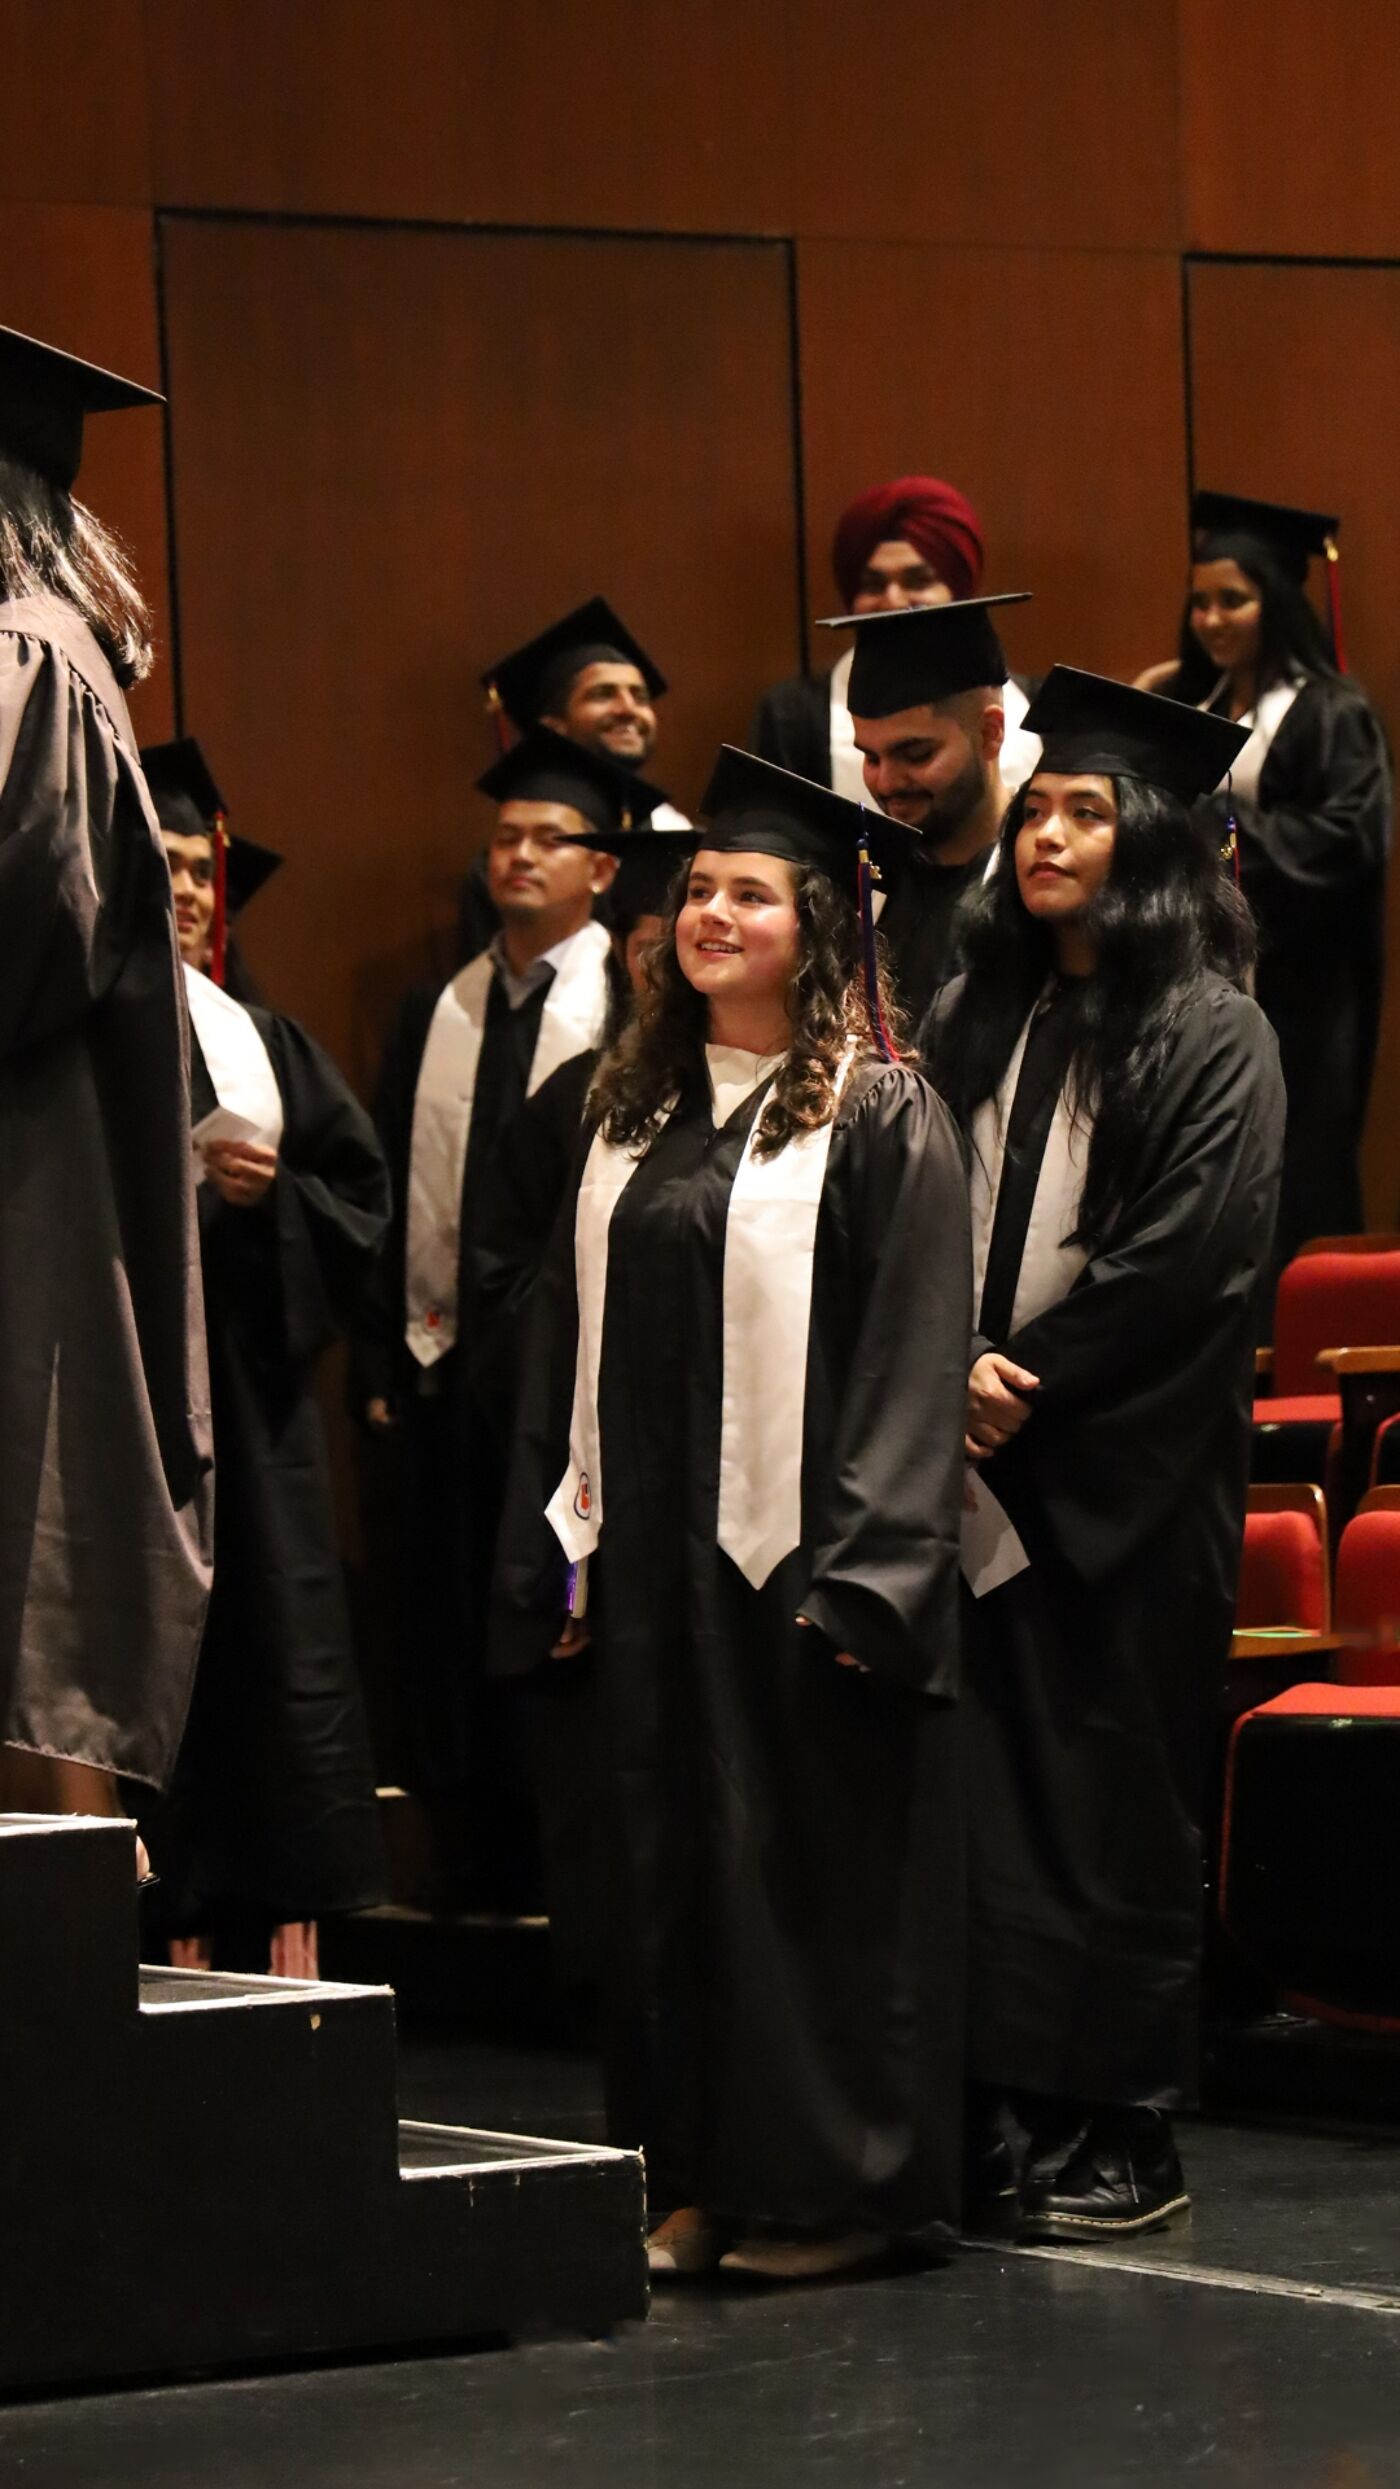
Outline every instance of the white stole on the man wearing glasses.
<path fill-rule="evenodd" d="M 608 933 L 600 923 L 585 923 L 565 943 L 546 996 L 526 1095 L 533 1098 L 560 1063 L 598 1045 L 608 1016 L 605 963 Z M 491 953 L 481 951 L 443 986 L 414 1090 L 404 1337 L 421 1366 L 433 1366 L 456 1342 L 461 1180 L 493 978 Z"/>

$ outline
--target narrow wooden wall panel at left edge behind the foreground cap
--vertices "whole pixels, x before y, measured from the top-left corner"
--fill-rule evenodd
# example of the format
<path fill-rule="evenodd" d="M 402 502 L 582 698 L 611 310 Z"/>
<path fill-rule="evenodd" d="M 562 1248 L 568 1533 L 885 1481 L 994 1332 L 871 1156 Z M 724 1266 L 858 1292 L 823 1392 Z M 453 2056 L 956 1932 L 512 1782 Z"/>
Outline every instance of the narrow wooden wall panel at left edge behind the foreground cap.
<path fill-rule="evenodd" d="M 7 326 L 159 388 L 149 212 L 0 204 L 0 259 Z M 77 490 L 130 545 L 154 610 L 157 672 L 132 694 L 137 734 L 154 742 L 174 714 L 159 408 L 95 418 Z"/>

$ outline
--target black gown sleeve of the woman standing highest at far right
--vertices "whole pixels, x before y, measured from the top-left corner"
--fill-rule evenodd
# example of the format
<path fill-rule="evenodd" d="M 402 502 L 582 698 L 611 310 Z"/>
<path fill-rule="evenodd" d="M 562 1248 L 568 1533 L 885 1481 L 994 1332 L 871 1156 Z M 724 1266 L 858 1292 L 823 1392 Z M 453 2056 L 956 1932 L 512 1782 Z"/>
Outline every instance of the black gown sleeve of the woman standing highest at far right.
<path fill-rule="evenodd" d="M 1285 881 L 1298 896 L 1373 879 L 1390 846 L 1395 787 L 1385 732 L 1350 684 L 1298 692 L 1263 764 L 1253 801 L 1213 796 L 1221 826 L 1241 834 L 1246 899 Z"/>

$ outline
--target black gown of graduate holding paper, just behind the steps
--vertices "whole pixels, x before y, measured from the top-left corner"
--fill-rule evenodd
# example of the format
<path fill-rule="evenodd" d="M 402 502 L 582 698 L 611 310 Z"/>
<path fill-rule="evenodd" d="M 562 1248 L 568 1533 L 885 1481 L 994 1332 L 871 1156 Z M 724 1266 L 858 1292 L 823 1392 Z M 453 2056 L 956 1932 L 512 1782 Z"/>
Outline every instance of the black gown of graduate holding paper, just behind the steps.
<path fill-rule="evenodd" d="M 316 1364 L 389 1225 L 374 1125 L 296 1020 L 249 1011 L 281 1098 L 269 1192 L 199 1185 L 214 1451 L 214 1595 L 189 1732 L 152 1819 L 159 1917 L 244 1904 L 316 1919 L 384 1899 Z M 194 1120 L 217 1103 L 194 1040 Z"/>

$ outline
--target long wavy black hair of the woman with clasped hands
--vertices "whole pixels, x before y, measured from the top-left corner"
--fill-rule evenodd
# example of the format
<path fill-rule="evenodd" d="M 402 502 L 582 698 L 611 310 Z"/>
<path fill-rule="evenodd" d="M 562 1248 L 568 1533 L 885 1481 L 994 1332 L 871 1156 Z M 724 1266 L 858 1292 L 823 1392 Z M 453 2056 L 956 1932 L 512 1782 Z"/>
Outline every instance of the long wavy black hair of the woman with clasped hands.
<path fill-rule="evenodd" d="M 1076 1240 L 1099 1244 L 1123 1207 L 1181 1011 L 1211 971 L 1243 986 L 1253 918 L 1218 851 L 1218 824 L 1141 779 L 1111 779 L 1114 861 L 1079 926 L 1091 976 L 1066 981 L 1069 1083 L 1094 1118 Z M 927 1030 L 929 1073 L 967 1130 L 994 1098 L 1016 1038 L 1056 976 L 1054 938 L 1016 884 L 1026 787 L 1011 796 L 996 864 L 964 918 L 964 978 Z"/>

